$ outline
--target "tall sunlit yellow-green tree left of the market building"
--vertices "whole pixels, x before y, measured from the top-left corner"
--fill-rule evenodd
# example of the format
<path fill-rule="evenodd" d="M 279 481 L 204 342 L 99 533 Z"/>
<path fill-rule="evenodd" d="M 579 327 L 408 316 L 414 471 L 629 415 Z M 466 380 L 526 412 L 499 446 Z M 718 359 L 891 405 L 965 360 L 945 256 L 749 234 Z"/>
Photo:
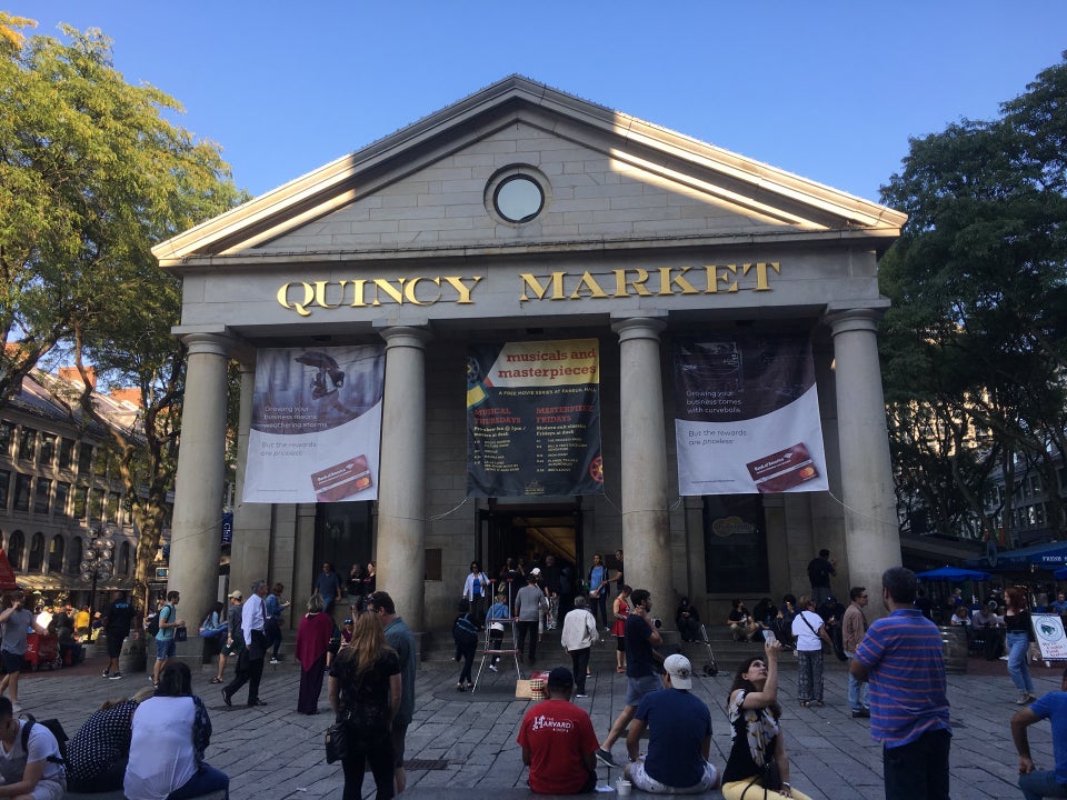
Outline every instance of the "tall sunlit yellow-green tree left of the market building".
<path fill-rule="evenodd" d="M 0 32 L 26 22 L 0 16 Z M 50 352 L 82 371 L 86 388 L 68 400 L 90 419 L 102 422 L 97 384 L 140 389 L 137 429 L 103 427 L 139 528 L 143 588 L 166 521 L 185 387 L 185 349 L 170 333 L 181 288 L 150 248 L 241 196 L 219 148 L 163 118 L 181 110 L 173 98 L 114 70 L 110 39 L 63 33 L 69 43 L 0 36 L 17 42 L 0 49 L 0 403 Z"/>

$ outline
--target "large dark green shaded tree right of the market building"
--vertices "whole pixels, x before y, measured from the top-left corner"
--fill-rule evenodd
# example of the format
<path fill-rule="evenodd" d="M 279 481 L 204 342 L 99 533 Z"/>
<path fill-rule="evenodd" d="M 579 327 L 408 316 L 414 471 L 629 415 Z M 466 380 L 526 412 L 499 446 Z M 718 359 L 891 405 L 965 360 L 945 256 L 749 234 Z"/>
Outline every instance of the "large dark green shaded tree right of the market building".
<path fill-rule="evenodd" d="M 1065 97 L 1067 61 L 999 119 L 911 140 L 882 188 L 909 214 L 880 271 L 894 302 L 881 350 L 898 493 L 921 497 L 944 533 L 996 527 L 985 510 L 995 467 L 1006 521 L 1015 459 L 1056 487 L 1053 453 L 1067 454 Z M 1049 496 L 1063 531 L 1063 501 Z"/>

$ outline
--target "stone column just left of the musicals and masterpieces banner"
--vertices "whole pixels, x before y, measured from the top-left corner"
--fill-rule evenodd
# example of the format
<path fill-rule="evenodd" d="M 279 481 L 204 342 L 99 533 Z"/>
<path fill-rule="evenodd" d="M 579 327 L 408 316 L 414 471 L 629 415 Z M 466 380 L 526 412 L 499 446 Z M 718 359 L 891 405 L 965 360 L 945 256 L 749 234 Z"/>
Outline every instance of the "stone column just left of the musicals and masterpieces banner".
<path fill-rule="evenodd" d="M 386 392 L 378 473 L 378 588 L 422 630 L 426 567 L 426 342 L 421 328 L 382 327 Z"/>

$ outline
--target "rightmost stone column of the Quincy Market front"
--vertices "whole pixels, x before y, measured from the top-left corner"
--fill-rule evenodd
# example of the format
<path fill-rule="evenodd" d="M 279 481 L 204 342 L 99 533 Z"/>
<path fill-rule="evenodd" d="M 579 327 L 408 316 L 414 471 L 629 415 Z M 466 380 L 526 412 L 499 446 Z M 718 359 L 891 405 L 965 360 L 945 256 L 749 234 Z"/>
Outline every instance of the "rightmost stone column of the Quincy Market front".
<path fill-rule="evenodd" d="M 878 597 L 881 573 L 900 566 L 900 531 L 878 363 L 881 309 L 828 311 L 827 322 L 834 334 L 848 580 L 850 586 L 865 586 Z"/>

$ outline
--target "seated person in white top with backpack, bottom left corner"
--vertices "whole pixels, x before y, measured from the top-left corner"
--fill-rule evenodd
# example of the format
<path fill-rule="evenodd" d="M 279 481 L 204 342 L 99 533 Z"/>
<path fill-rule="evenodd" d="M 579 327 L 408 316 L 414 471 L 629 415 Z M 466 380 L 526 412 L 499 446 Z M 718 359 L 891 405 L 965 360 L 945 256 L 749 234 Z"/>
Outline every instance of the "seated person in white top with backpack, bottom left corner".
<path fill-rule="evenodd" d="M 32 723 L 23 741 L 23 728 L 11 701 L 0 697 L 0 790 L 14 800 L 62 800 L 67 797 L 67 773 L 59 742 L 40 722 Z"/>

